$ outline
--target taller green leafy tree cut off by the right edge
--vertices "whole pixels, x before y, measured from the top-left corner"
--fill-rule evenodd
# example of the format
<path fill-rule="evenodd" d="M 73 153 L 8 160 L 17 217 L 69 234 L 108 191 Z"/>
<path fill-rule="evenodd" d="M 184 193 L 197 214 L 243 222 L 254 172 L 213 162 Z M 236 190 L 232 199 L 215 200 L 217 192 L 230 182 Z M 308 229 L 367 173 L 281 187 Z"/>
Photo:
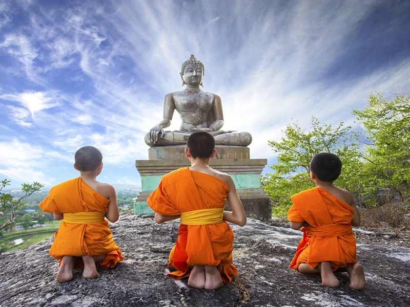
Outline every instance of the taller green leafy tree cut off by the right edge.
<path fill-rule="evenodd" d="M 363 124 L 369 144 L 366 167 L 375 187 L 389 187 L 401 195 L 410 193 L 410 95 L 391 102 L 376 92 L 368 107 L 352 113 Z"/>

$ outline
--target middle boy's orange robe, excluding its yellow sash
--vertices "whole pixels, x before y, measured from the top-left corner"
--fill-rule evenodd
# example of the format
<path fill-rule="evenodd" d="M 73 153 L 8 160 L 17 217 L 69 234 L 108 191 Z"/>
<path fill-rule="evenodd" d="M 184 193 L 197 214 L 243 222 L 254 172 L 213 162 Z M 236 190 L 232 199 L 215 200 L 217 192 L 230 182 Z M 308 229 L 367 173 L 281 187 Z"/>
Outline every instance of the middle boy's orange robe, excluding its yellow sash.
<path fill-rule="evenodd" d="M 223 208 L 229 192 L 228 185 L 211 175 L 180 168 L 162 177 L 152 192 L 148 205 L 162 215 Z M 175 272 L 169 277 L 188 277 L 195 265 L 216 266 L 223 283 L 238 274 L 232 263 L 234 234 L 228 223 L 183 225 L 169 257 L 168 266 Z"/>

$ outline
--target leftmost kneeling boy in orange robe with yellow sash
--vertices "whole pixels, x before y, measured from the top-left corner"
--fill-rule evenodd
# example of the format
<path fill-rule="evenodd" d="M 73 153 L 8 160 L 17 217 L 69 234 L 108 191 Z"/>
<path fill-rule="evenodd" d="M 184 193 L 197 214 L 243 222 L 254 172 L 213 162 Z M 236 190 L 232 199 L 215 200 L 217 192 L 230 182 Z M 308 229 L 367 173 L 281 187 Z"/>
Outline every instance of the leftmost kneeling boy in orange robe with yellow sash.
<path fill-rule="evenodd" d="M 60 260 L 59 282 L 73 279 L 73 268 L 84 267 L 84 278 L 99 277 L 96 266 L 113 268 L 124 259 L 104 218 L 114 223 L 119 212 L 114 187 L 96 181 L 103 169 L 102 161 L 103 155 L 97 148 L 78 149 L 74 168 L 81 176 L 52 187 L 39 205 L 52 212 L 56 220 L 63 220 L 49 251 Z"/>

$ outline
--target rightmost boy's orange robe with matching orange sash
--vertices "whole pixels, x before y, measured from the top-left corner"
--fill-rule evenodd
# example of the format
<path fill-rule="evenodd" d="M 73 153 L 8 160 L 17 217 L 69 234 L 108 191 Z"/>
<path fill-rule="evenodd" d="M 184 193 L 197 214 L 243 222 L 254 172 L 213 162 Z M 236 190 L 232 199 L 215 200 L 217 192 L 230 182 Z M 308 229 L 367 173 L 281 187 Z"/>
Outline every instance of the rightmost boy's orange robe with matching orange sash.
<path fill-rule="evenodd" d="M 302 263 L 311 268 L 330 261 L 332 270 L 355 264 L 356 238 L 352 231 L 353 208 L 322 188 L 302 191 L 291 197 L 288 220 L 306 222 L 291 265 Z"/>

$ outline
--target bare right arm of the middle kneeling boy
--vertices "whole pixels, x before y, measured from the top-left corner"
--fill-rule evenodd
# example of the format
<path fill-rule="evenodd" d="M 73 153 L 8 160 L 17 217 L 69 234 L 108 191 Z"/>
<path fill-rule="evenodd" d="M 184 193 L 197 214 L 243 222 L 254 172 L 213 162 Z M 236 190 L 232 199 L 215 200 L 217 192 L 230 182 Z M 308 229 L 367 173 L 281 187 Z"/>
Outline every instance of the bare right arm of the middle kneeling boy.
<path fill-rule="evenodd" d="M 227 200 L 232 212 L 223 211 L 223 220 L 243 227 L 245 226 L 245 224 L 247 224 L 247 215 L 245 214 L 242 202 L 240 201 L 238 194 L 236 193 L 235 183 L 229 175 L 227 175 L 225 182 L 229 187 Z"/>

